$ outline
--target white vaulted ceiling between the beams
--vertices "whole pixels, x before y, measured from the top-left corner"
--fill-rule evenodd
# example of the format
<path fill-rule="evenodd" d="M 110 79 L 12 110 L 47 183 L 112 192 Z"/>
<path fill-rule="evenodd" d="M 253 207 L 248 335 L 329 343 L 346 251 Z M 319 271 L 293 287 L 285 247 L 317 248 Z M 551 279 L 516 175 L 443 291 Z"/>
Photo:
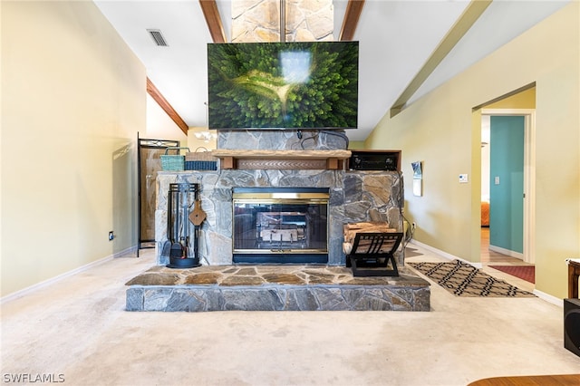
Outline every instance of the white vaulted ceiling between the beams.
<path fill-rule="evenodd" d="M 237 0 L 217 1 L 227 37 L 230 36 L 232 1 Z M 413 95 L 411 102 L 568 2 L 495 0 Z M 207 125 L 207 44 L 212 40 L 198 0 L 95 0 L 94 3 L 139 57 L 150 81 L 188 126 Z M 347 0 L 334 0 L 333 4 L 334 37 L 337 38 Z M 467 5 L 469 2 L 462 0 L 366 0 L 353 39 L 360 46 L 359 128 L 346 131 L 350 140 L 364 140 L 369 135 Z M 169 46 L 157 46 L 148 29 L 159 29 Z"/>

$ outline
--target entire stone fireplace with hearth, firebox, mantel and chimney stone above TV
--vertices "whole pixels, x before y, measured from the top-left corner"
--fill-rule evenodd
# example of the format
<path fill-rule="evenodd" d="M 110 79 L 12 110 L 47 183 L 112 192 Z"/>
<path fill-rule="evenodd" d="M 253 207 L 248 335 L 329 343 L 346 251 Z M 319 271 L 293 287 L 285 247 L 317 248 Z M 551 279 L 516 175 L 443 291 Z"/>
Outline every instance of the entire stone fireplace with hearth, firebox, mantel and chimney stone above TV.
<path fill-rule="evenodd" d="M 332 1 L 315 3 L 293 2 L 285 8 L 285 41 L 333 40 Z M 280 19 L 276 2 L 235 2 L 232 6 L 232 42 L 281 40 L 280 25 L 271 23 Z M 267 15 L 272 17 L 264 24 Z M 261 24 L 255 25 L 256 20 Z M 348 138 L 342 130 L 220 130 L 218 150 L 247 151 L 252 157 L 220 159 L 215 171 L 160 172 L 155 213 L 158 266 L 127 283 L 126 309 L 429 311 L 429 283 L 403 266 L 401 250 L 395 253 L 401 268 L 397 277 L 354 277 L 344 266 L 344 224 L 382 221 L 402 231 L 400 173 L 348 170 L 338 158 L 315 162 L 304 162 L 301 157 L 292 161 L 278 158 L 268 163 L 253 153 L 348 152 L 346 149 Z M 196 268 L 166 267 L 169 258 L 161 256 L 167 241 L 167 192 L 172 183 L 200 187 L 201 207 L 207 217 L 198 232 L 202 266 Z M 325 197 L 324 204 L 316 207 L 311 203 L 289 207 L 285 201 L 273 203 L 274 207 L 266 207 L 269 203 L 238 207 L 242 190 L 292 194 L 305 190 L 324 192 Z M 237 218 L 238 214 L 243 218 Z M 239 224 L 244 226 L 237 227 Z M 241 245 L 239 236 L 243 236 Z M 253 261 L 244 262 L 248 257 Z M 264 258 L 268 261 L 260 261 Z M 296 261 L 298 258 L 302 260 Z M 272 260 L 296 264 L 273 265 Z"/>

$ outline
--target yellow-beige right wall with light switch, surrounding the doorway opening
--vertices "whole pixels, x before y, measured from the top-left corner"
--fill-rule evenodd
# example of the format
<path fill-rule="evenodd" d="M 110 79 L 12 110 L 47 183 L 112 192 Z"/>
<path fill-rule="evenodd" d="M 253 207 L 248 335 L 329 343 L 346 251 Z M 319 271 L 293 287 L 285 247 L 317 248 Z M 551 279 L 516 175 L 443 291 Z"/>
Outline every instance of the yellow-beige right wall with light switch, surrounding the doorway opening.
<path fill-rule="evenodd" d="M 366 146 L 401 149 L 405 217 L 415 238 L 479 261 L 480 114 L 472 109 L 536 82 L 536 289 L 567 293 L 565 258 L 580 256 L 580 3 L 572 2 L 399 115 Z M 412 196 L 421 160 L 423 196 Z M 459 184 L 469 173 L 469 184 Z"/>

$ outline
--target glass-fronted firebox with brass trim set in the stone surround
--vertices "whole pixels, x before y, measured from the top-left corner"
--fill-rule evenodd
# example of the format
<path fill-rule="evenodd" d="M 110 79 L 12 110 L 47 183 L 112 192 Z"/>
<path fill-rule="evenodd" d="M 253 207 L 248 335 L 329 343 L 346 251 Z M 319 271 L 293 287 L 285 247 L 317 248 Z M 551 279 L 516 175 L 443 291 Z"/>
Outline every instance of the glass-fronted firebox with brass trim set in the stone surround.
<path fill-rule="evenodd" d="M 329 188 L 234 188 L 233 262 L 327 264 Z"/>

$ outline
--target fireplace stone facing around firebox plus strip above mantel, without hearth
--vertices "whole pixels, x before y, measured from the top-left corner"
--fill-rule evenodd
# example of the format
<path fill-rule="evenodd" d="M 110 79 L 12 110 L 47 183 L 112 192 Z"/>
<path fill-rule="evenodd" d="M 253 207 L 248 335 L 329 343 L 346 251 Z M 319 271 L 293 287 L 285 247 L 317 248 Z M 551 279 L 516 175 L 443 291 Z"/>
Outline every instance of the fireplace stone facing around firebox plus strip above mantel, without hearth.
<path fill-rule="evenodd" d="M 218 150 L 336 150 L 347 147 L 342 132 L 304 131 L 298 139 L 294 131 L 222 130 Z M 199 258 L 203 265 L 231 265 L 234 258 L 235 208 L 237 188 L 323 189 L 327 192 L 327 246 L 325 263 L 344 265 L 343 225 L 362 221 L 386 221 L 402 231 L 403 183 L 395 171 L 357 171 L 341 169 L 222 169 L 216 171 L 161 171 L 158 177 L 156 210 L 157 264 L 169 262 L 160 251 L 167 240 L 167 191 L 171 183 L 198 183 L 201 207 L 207 218 L 199 231 Z M 298 210 L 299 211 L 299 210 Z M 289 235 L 293 236 L 289 236 Z M 265 234 L 266 235 L 266 234 Z M 294 236 L 296 235 L 296 236 Z M 296 237 L 286 232 L 286 238 Z M 274 236 L 273 236 L 274 240 Z M 285 241 L 283 239 L 283 241 Z M 296 240 L 297 241 L 297 240 Z M 275 248 L 271 248 L 275 249 Z M 285 254 L 277 252 L 279 256 Z M 319 248 L 319 249 L 324 249 Z M 317 251 L 315 255 L 320 255 Z M 324 255 L 324 254 L 322 254 Z M 247 257 L 242 256 L 242 257 Z M 310 256 L 312 257 L 312 256 Z M 318 256 L 320 257 L 320 256 Z M 243 259 L 242 259 L 243 260 Z M 281 261 L 278 258 L 279 261 Z M 290 259 L 292 260 L 292 259 Z M 400 265 L 402 253 L 397 253 Z M 248 262 L 248 261 L 246 261 Z M 311 262 L 315 262 L 312 260 Z M 322 260 L 318 262 L 322 263 Z M 256 263 L 256 261 L 255 261 Z"/>

